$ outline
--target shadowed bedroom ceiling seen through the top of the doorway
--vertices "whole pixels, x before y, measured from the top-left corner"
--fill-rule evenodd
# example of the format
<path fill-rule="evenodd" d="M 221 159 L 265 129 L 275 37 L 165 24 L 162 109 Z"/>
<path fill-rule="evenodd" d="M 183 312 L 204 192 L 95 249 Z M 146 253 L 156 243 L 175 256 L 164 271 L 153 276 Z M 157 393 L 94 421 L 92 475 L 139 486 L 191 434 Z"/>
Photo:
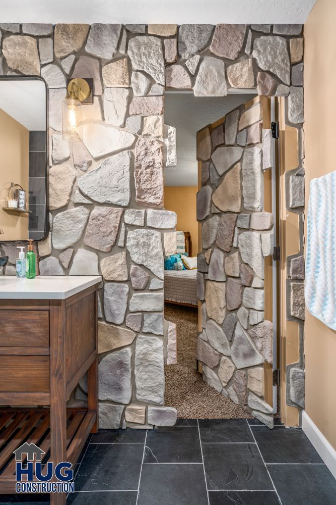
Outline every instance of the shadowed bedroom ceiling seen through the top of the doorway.
<path fill-rule="evenodd" d="M 165 124 L 175 126 L 177 166 L 165 169 L 166 186 L 197 186 L 196 132 L 222 118 L 252 94 L 199 97 L 193 93 L 165 94 Z"/>

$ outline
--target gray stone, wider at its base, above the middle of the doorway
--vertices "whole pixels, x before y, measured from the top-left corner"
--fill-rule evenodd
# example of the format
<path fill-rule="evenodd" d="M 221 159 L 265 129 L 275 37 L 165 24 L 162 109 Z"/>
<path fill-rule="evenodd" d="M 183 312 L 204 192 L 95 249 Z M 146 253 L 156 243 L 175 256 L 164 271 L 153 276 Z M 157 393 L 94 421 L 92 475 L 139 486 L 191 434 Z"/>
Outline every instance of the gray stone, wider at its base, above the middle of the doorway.
<path fill-rule="evenodd" d="M 195 96 L 226 96 L 225 64 L 218 58 L 205 56 L 199 66 L 193 87 Z"/>

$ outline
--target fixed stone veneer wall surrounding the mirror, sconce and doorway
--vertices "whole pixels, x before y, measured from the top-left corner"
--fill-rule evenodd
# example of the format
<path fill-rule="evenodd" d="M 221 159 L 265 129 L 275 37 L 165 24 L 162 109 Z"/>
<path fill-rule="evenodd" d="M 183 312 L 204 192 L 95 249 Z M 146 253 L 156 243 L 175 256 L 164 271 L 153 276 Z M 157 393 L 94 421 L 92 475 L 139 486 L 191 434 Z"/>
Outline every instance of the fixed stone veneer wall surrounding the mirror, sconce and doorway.
<path fill-rule="evenodd" d="M 51 226 L 38 246 L 40 273 L 104 278 L 100 427 L 173 424 L 175 410 L 162 407 L 164 355 L 173 359 L 163 337 L 162 230 L 176 223 L 163 210 L 162 95 L 165 87 L 196 96 L 224 96 L 228 87 L 288 95 L 286 119 L 301 131 L 302 26 L 1 23 L 0 30 L 0 74 L 41 75 L 49 88 Z M 74 144 L 61 137 L 68 76 L 94 79 L 83 142 Z M 301 215 L 302 175 L 300 161 L 288 205 Z M 3 244 L 5 273 L 13 273 L 14 245 Z M 302 284 L 291 289 L 291 317 L 303 319 Z M 76 397 L 85 399 L 85 381 Z"/>

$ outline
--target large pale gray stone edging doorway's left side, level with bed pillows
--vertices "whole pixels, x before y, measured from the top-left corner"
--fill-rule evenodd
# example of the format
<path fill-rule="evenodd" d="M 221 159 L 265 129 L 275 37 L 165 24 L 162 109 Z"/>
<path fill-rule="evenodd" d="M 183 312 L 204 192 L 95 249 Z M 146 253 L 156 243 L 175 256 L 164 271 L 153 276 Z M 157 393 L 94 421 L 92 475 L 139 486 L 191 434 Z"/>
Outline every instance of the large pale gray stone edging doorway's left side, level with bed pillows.
<path fill-rule="evenodd" d="M 159 279 L 164 279 L 161 234 L 155 230 L 133 230 L 127 233 L 126 247 L 133 262 L 144 265 Z"/>

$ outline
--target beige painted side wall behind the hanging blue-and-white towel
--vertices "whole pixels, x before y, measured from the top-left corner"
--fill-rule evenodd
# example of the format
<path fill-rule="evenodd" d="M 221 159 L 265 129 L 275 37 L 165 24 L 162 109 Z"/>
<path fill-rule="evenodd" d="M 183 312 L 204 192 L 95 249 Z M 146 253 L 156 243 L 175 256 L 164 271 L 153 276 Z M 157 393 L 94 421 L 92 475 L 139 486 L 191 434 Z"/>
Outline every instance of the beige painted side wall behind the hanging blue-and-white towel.
<path fill-rule="evenodd" d="M 317 0 L 304 25 L 306 211 L 309 182 L 336 169 L 335 82 L 336 2 Z M 307 236 L 305 231 L 305 236 Z M 336 332 L 306 310 L 306 412 L 336 449 Z"/>

